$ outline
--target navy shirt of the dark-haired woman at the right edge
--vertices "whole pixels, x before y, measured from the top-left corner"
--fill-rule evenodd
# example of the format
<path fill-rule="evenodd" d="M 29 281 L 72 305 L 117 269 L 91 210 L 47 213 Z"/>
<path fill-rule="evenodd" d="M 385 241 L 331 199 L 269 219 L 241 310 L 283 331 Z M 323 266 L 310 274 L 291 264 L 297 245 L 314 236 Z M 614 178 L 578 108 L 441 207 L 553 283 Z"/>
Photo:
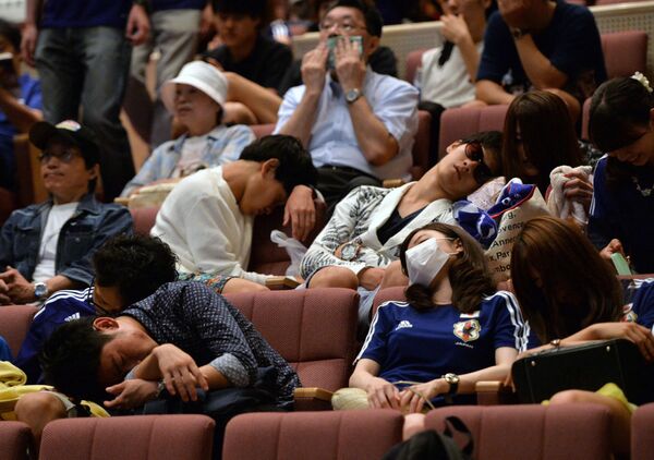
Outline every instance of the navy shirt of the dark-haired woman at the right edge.
<path fill-rule="evenodd" d="M 609 189 L 606 184 L 606 162 L 597 162 L 593 175 L 593 202 L 589 216 L 589 238 L 597 249 L 613 238 L 622 243 L 631 256 L 633 268 L 640 274 L 654 273 L 654 193 L 644 196 L 641 191 L 654 186 L 654 169 L 642 167 L 631 181 Z M 641 191 L 639 191 L 639 187 Z M 646 193 L 646 192 L 645 192 Z"/>

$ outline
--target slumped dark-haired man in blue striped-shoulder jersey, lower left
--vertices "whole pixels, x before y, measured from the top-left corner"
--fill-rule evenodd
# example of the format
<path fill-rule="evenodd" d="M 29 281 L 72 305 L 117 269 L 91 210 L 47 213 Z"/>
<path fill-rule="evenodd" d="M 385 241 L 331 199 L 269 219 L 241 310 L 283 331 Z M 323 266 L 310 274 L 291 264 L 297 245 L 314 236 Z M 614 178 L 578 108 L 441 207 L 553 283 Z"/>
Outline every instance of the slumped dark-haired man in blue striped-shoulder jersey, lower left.
<path fill-rule="evenodd" d="M 93 264 L 94 287 L 59 291 L 34 316 L 14 360 L 29 384 L 39 383 L 38 353 L 59 326 L 82 316 L 121 312 L 177 279 L 174 254 L 168 244 L 153 237 L 116 237 L 94 254 Z"/>

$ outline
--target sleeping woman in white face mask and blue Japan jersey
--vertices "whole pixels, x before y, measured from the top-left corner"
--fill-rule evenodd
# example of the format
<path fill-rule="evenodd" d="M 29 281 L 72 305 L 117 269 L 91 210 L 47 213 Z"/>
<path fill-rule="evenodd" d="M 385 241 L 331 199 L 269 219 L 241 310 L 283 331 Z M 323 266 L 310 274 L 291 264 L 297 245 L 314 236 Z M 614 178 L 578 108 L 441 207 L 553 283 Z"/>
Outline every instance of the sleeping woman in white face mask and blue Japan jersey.
<path fill-rule="evenodd" d="M 465 403 L 479 380 L 504 379 L 529 328 L 509 292 L 496 292 L 482 247 L 464 230 L 431 223 L 402 243 L 408 302 L 387 302 L 373 318 L 350 388 L 335 409 Z M 474 401 L 474 399 L 473 399 Z"/>

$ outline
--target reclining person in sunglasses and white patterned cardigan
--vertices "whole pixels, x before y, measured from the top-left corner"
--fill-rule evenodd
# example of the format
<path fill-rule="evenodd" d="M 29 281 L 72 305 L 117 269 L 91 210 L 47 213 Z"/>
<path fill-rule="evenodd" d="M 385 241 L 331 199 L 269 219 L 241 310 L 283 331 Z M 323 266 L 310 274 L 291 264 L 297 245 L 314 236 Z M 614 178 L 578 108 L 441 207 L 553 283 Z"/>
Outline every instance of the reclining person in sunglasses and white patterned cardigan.
<path fill-rule="evenodd" d="M 429 222 L 455 223 L 452 203 L 498 175 L 500 145 L 499 132 L 479 133 L 451 144 L 417 182 L 354 189 L 302 258 L 300 275 L 307 287 L 374 291 L 412 230 Z M 370 305 L 360 310 L 365 324 L 368 311 Z"/>

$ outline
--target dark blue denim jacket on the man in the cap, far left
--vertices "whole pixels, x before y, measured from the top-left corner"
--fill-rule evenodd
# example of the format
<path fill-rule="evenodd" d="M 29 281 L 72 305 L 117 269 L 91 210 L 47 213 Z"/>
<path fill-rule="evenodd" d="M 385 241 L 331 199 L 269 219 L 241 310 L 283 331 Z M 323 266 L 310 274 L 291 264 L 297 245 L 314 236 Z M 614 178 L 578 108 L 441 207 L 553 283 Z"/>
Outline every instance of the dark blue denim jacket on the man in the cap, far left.
<path fill-rule="evenodd" d="M 52 201 L 14 210 L 0 231 L 0 271 L 7 265 L 32 280 L 38 263 L 41 232 L 48 221 Z M 105 241 L 132 232 L 128 208 L 102 204 L 93 194 L 80 201 L 73 217 L 61 228 L 57 243 L 55 273 L 84 285 L 93 282 L 93 253 Z"/>

